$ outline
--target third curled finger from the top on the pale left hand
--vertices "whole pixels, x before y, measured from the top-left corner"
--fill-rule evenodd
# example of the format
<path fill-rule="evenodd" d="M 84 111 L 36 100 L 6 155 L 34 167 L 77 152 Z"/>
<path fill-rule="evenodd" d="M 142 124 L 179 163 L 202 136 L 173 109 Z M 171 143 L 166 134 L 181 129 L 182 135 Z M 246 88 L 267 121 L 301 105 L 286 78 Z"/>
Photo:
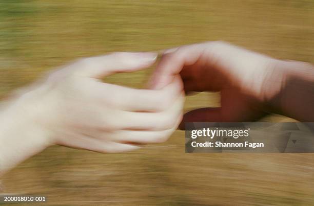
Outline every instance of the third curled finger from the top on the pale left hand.
<path fill-rule="evenodd" d="M 178 128 L 182 118 L 178 118 L 176 124 L 167 130 L 162 131 L 135 131 L 121 130 L 111 135 L 111 140 L 126 143 L 152 144 L 166 142 L 169 136 Z"/>

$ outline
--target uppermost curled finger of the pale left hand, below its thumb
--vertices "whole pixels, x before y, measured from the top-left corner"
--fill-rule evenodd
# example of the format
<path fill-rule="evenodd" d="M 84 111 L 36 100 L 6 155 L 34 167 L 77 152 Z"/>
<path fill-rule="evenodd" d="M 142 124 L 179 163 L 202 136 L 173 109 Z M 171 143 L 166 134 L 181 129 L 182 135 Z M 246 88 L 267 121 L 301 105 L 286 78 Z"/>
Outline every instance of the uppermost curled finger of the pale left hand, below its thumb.
<path fill-rule="evenodd" d="M 183 83 L 180 78 L 161 90 L 134 89 L 114 84 L 89 81 L 84 86 L 86 97 L 97 100 L 101 105 L 126 111 L 164 111 L 180 96 Z"/>

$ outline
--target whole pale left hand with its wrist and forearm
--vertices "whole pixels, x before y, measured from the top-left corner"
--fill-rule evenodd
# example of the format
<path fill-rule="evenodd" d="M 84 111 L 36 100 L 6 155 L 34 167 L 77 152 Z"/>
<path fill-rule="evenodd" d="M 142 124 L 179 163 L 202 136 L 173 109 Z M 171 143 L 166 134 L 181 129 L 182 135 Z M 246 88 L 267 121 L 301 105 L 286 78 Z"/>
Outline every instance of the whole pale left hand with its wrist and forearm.
<path fill-rule="evenodd" d="M 165 142 L 182 117 L 179 77 L 161 90 L 100 80 L 142 70 L 155 59 L 154 53 L 81 59 L 5 102 L 0 112 L 0 172 L 53 144 L 112 153 Z"/>

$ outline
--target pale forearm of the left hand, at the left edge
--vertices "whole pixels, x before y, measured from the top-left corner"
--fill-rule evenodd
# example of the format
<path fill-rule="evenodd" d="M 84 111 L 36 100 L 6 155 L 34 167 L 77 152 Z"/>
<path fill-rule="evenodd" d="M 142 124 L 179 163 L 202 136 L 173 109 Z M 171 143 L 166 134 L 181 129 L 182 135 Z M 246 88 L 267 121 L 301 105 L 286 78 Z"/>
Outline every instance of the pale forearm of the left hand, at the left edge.
<path fill-rule="evenodd" d="M 49 145 L 29 103 L 18 99 L 0 108 L 0 175 Z"/>

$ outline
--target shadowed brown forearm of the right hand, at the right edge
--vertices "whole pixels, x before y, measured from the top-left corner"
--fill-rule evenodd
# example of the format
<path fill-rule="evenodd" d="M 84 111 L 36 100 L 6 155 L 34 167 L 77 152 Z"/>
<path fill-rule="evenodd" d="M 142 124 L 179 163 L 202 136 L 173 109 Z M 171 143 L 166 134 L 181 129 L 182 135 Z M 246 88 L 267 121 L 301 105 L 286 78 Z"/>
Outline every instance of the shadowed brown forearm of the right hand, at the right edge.
<path fill-rule="evenodd" d="M 314 122 L 314 66 L 284 61 L 286 71 L 280 93 L 273 99 L 275 110 L 302 122 Z"/>

